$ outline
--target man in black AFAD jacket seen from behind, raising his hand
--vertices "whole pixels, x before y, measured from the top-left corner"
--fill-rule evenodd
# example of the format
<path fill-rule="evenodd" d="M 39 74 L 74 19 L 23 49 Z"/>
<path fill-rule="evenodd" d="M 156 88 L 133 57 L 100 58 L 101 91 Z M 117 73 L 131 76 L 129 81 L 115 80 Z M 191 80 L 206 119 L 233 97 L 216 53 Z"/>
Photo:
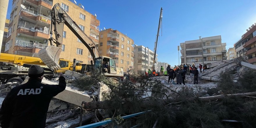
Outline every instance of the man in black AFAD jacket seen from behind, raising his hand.
<path fill-rule="evenodd" d="M 51 98 L 66 88 L 60 73 L 59 84 L 41 83 L 44 69 L 38 65 L 29 68 L 29 81 L 13 88 L 5 97 L 0 109 L 2 128 L 45 128 Z"/>

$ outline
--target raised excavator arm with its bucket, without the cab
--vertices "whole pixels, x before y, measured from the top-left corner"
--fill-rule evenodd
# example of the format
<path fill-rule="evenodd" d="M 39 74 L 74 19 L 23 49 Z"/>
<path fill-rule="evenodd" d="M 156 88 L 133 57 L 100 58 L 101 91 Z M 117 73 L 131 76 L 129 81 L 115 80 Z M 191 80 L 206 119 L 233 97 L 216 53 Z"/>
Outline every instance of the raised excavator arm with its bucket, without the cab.
<path fill-rule="evenodd" d="M 67 13 L 61 8 L 59 3 L 56 3 L 51 10 L 51 28 L 49 38 L 50 45 L 44 49 L 41 49 L 38 54 L 41 60 L 51 69 L 60 69 L 58 65 L 59 56 L 61 54 L 61 45 L 62 45 L 62 35 L 64 24 L 77 36 L 77 38 L 86 46 L 90 54 L 93 57 L 93 60 L 96 58 L 95 54 L 98 49 L 93 42 L 93 40 L 86 35 L 80 27 L 74 22 Z M 52 30 L 53 29 L 53 30 Z M 52 37 L 53 33 L 55 39 Z M 53 45 L 53 42 L 56 46 Z M 70 42 L 72 43 L 72 42 Z M 95 53 L 93 51 L 95 49 Z"/>

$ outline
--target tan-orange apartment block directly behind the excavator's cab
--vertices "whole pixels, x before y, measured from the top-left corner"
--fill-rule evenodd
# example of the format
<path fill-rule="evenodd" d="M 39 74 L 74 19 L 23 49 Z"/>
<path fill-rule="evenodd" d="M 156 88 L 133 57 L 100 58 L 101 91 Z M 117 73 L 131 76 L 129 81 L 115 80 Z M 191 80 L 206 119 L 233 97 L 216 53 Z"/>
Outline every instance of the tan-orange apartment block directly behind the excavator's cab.
<path fill-rule="evenodd" d="M 133 44 L 133 39 L 118 30 L 110 28 L 99 32 L 98 50 L 100 56 L 114 59 L 116 67 L 123 68 L 125 74 L 130 72 L 134 66 Z"/>

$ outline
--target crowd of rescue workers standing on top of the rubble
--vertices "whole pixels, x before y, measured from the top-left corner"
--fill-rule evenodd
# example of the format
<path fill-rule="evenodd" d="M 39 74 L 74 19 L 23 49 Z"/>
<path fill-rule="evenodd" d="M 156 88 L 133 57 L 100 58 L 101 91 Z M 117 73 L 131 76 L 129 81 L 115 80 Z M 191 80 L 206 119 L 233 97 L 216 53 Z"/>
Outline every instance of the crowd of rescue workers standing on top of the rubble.
<path fill-rule="evenodd" d="M 202 73 L 205 69 L 207 69 L 207 66 L 203 66 L 199 64 L 199 70 L 200 73 Z M 148 72 L 145 72 L 145 76 L 147 77 L 156 77 L 156 76 L 169 76 L 168 77 L 168 83 L 171 81 L 171 83 L 174 83 L 174 79 L 176 78 L 177 84 L 183 83 L 185 85 L 185 79 L 186 79 L 186 74 L 190 75 L 193 74 L 194 76 L 194 83 L 193 84 L 198 84 L 198 68 L 195 67 L 195 64 L 181 64 L 181 65 L 175 65 L 173 69 L 170 67 L 170 65 L 167 66 L 166 70 L 164 71 L 163 66 L 161 66 L 160 72 L 155 69 L 152 71 L 148 69 Z"/>

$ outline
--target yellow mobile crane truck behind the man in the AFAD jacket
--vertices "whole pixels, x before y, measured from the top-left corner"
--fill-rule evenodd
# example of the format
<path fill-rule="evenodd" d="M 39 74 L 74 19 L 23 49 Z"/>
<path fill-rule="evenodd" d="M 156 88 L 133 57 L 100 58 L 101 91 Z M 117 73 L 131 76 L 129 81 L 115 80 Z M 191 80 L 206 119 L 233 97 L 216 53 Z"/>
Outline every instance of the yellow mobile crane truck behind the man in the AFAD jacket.
<path fill-rule="evenodd" d="M 22 82 L 24 78 L 28 76 L 28 67 L 30 67 L 31 65 L 40 65 L 41 67 L 43 67 L 45 69 L 45 76 L 49 79 L 51 79 L 54 76 L 54 73 L 65 73 L 66 70 L 73 70 L 73 62 L 65 59 L 59 59 L 59 65 L 61 69 L 52 71 L 42 62 L 40 58 L 1 53 L 0 82 Z M 87 64 L 76 63 L 75 69 L 77 72 L 84 72 L 84 70 L 81 70 L 82 65 L 83 67 L 87 66 Z"/>

